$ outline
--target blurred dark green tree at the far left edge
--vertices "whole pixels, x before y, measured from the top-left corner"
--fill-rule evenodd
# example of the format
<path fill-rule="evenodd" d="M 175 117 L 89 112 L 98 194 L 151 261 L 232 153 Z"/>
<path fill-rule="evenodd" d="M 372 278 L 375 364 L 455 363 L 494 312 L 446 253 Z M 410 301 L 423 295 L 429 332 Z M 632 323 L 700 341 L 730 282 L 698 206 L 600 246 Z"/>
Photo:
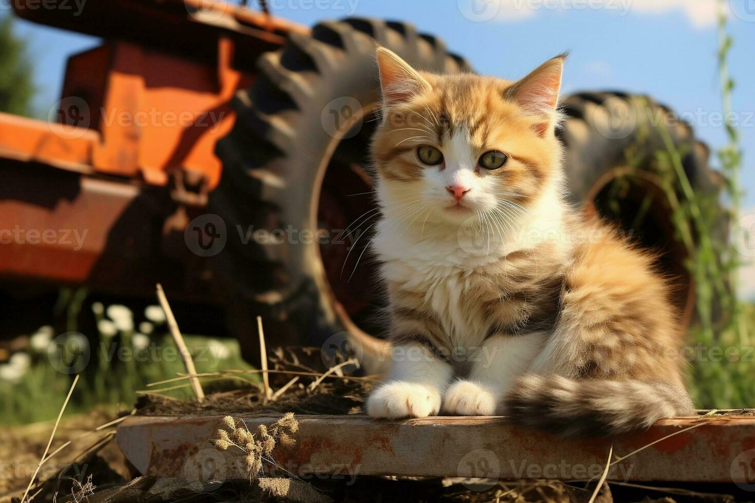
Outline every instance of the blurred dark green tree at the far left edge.
<path fill-rule="evenodd" d="M 0 17 L 0 112 L 32 115 L 33 71 L 26 41 L 14 30 L 14 18 Z"/>

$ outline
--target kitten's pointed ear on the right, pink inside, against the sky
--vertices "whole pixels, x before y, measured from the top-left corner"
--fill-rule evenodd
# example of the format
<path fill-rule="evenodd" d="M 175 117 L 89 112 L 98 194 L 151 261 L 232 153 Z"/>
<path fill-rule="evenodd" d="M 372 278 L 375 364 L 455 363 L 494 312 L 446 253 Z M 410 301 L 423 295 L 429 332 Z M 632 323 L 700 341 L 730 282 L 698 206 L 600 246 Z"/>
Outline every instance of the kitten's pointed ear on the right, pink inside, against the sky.
<path fill-rule="evenodd" d="M 538 66 L 529 75 L 513 84 L 506 91 L 506 99 L 516 101 L 527 115 L 542 117 L 542 123 L 535 124 L 539 136 L 552 131 L 556 125 L 556 107 L 559 103 L 561 74 L 567 54 L 559 54 Z"/>

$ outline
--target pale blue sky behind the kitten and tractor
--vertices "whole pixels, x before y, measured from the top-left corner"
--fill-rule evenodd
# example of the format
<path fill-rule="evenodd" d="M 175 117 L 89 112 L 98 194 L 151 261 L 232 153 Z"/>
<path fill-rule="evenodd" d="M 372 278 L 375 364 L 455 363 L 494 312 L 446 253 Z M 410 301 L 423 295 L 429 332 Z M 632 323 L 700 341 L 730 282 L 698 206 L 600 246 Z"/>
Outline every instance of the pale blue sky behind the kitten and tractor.
<path fill-rule="evenodd" d="M 477 72 L 519 78 L 547 58 L 572 51 L 563 90 L 627 90 L 650 94 L 677 112 L 698 117 L 698 137 L 723 146 L 716 72 L 715 0 L 270 0 L 273 11 L 312 25 L 349 15 L 414 23 L 445 39 Z M 254 0 L 250 1 L 254 4 Z M 727 0 L 726 4 L 729 4 Z M 597 8 L 580 8 L 594 5 Z M 744 208 L 755 211 L 755 0 L 731 0 L 734 38 L 730 68 L 737 87 L 744 149 Z M 470 10 L 475 8 L 476 10 Z M 492 10 L 491 10 L 492 9 Z M 491 15 L 492 14 L 492 15 Z M 96 38 L 19 22 L 31 41 L 45 113 L 60 99 L 66 58 L 99 44 Z M 748 92 L 748 90 L 750 92 Z M 717 164 L 717 159 L 712 158 Z M 755 269 L 743 271 L 755 293 Z"/>

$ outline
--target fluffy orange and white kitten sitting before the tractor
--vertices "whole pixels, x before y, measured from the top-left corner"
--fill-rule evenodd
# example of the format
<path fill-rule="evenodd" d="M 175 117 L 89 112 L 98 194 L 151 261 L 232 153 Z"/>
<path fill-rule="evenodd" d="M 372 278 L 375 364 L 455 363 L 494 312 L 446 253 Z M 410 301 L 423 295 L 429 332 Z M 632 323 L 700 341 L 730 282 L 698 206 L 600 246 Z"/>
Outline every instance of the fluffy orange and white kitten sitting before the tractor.
<path fill-rule="evenodd" d="M 564 60 L 506 81 L 377 49 L 373 244 L 393 368 L 371 416 L 504 414 L 581 435 L 694 413 L 653 256 L 565 202 Z"/>

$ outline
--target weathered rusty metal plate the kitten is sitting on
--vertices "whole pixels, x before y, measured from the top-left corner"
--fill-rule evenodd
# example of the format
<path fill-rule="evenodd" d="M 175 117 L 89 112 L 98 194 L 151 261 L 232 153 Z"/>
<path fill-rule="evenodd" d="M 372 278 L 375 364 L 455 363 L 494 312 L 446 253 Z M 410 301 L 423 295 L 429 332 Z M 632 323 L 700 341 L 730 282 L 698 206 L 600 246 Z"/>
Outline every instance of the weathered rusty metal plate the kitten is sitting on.
<path fill-rule="evenodd" d="M 251 431 L 278 419 L 242 418 Z M 119 426 L 118 443 L 142 474 L 244 478 L 243 452 L 221 452 L 210 443 L 219 419 L 134 416 Z M 296 446 L 276 448 L 278 467 L 265 463 L 266 474 L 587 480 L 602 474 L 611 445 L 616 460 L 653 443 L 612 465 L 608 479 L 735 482 L 755 489 L 755 417 L 666 419 L 640 434 L 590 440 L 560 439 L 501 417 L 297 419 Z"/>

